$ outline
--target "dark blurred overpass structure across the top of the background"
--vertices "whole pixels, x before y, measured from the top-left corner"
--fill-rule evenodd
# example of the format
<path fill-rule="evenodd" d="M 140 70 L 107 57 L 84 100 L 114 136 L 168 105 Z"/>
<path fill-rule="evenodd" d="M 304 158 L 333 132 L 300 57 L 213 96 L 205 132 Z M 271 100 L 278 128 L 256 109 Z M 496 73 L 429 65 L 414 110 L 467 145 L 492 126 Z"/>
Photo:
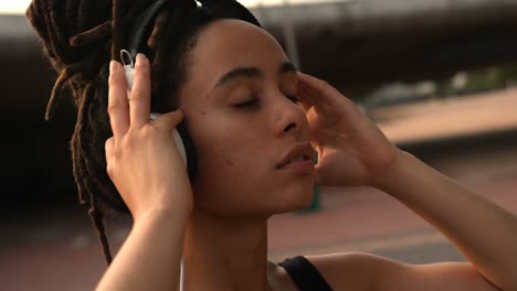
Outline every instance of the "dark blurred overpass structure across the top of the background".
<path fill-rule="evenodd" d="M 302 71 L 344 91 L 517 63 L 517 0 L 283 2 L 251 10 Z M 53 75 L 23 15 L 0 15 L 0 61 L 8 90 L 23 96 L 12 99 L 44 99 L 31 89 L 48 91 Z"/>

